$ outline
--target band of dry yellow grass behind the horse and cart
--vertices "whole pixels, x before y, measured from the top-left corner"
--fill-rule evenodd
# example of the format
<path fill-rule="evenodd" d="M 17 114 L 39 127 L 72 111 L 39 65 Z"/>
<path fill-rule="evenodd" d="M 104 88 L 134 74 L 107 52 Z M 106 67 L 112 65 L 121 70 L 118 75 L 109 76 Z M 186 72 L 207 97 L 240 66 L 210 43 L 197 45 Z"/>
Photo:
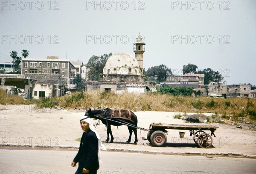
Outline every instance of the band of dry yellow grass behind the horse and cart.
<path fill-rule="evenodd" d="M 4 90 L 0 90 L 0 104 L 29 104 L 19 96 L 8 96 Z M 186 97 L 171 96 L 160 93 L 101 93 L 99 91 L 78 92 L 58 98 L 36 101 L 37 107 L 59 107 L 64 108 L 114 108 L 130 109 L 134 111 L 171 111 L 171 112 L 195 112 L 221 114 L 222 119 L 233 120 L 239 118 L 249 119 L 256 124 L 256 99 L 240 98 L 209 98 L 209 97 Z"/>

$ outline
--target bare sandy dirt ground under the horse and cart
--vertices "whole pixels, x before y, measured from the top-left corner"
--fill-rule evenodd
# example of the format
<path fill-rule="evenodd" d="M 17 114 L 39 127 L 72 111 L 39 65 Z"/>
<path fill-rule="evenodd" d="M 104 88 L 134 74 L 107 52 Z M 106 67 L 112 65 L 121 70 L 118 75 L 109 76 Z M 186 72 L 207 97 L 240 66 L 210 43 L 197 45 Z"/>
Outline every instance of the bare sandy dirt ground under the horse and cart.
<path fill-rule="evenodd" d="M 184 120 L 174 119 L 173 112 L 135 112 L 138 126 L 149 128 L 152 122 L 186 125 L 208 125 L 205 123 L 184 123 Z M 181 113 L 182 114 L 182 113 Z M 187 113 L 193 114 L 193 113 Z M 207 116 L 211 113 L 204 113 Z M 79 147 L 78 138 L 82 135 L 79 119 L 84 116 L 84 110 L 33 109 L 33 105 L 0 106 L 0 144 L 30 145 L 56 148 Z M 97 123 L 97 120 L 93 120 Z M 179 130 L 169 130 L 165 147 L 153 147 L 144 140 L 146 131 L 138 130 L 138 143 L 126 144 L 129 132 L 127 126 L 112 126 L 113 143 L 104 143 L 108 150 L 140 151 L 170 154 L 217 154 L 256 157 L 256 131 L 237 128 L 235 125 L 211 123 L 217 126 L 216 137 L 213 137 L 212 148 L 199 148 L 185 131 L 184 138 L 179 137 Z M 105 125 L 100 122 L 96 130 L 106 139 Z M 209 132 L 207 132 L 209 133 Z M 134 142 L 134 134 L 132 136 Z"/>

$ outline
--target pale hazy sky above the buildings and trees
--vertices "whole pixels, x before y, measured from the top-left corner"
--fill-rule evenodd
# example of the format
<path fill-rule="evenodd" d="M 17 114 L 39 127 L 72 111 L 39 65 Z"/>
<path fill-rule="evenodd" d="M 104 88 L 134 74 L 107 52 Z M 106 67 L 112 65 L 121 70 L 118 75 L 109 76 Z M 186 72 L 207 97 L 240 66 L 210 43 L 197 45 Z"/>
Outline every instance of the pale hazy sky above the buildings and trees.
<path fill-rule="evenodd" d="M 227 84 L 256 84 L 256 1 L 1 0 L 0 62 L 11 51 L 86 64 L 92 55 L 134 55 L 144 37 L 144 67 L 166 64 L 219 71 Z"/>

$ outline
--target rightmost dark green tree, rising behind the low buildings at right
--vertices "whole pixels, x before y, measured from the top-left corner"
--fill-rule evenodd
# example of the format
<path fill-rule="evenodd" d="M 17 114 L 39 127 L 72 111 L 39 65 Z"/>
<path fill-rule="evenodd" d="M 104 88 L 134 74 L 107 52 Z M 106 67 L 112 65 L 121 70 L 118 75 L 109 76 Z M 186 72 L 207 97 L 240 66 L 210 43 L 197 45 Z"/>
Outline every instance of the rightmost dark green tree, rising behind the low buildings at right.
<path fill-rule="evenodd" d="M 223 77 L 218 71 L 213 71 L 211 68 L 204 69 L 203 71 L 198 71 L 198 74 L 204 74 L 204 84 L 209 84 L 211 81 L 220 82 Z"/>

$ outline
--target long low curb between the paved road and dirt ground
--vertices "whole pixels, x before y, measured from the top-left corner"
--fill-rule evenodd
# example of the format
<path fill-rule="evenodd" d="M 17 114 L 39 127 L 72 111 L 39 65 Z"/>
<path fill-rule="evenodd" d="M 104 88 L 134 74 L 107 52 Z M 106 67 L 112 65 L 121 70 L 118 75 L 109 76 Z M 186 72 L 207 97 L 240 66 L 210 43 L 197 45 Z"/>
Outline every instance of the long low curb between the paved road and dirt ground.
<path fill-rule="evenodd" d="M 0 144 L 0 147 L 17 147 L 17 148 L 55 148 L 55 149 L 78 149 L 79 146 L 49 146 L 49 145 L 13 145 L 13 144 Z M 123 149 L 123 148 L 106 148 L 107 151 L 123 151 L 123 152 L 133 152 L 133 153 L 145 153 L 145 154 L 166 154 L 166 155 L 201 155 L 201 156 L 222 156 L 222 157 L 245 157 L 254 158 L 256 155 L 248 155 L 242 153 L 207 153 L 207 152 L 164 152 L 164 151 L 146 151 L 146 150 L 136 150 L 136 149 Z"/>

